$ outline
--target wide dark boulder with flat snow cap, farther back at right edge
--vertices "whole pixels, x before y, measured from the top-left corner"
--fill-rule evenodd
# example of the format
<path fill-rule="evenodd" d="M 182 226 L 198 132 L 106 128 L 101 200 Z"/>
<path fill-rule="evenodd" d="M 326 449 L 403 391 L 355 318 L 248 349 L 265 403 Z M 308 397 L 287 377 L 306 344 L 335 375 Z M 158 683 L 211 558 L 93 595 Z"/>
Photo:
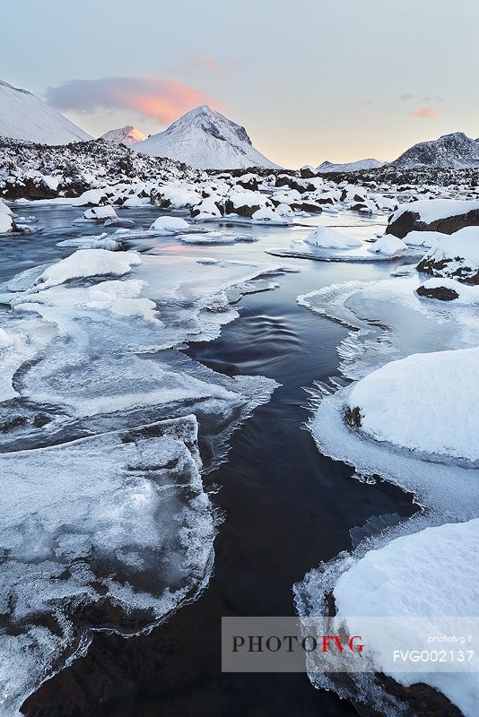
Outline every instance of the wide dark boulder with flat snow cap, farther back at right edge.
<path fill-rule="evenodd" d="M 479 200 L 422 199 L 399 207 L 390 217 L 386 233 L 404 239 L 414 230 L 452 234 L 471 225 L 479 225 Z"/>

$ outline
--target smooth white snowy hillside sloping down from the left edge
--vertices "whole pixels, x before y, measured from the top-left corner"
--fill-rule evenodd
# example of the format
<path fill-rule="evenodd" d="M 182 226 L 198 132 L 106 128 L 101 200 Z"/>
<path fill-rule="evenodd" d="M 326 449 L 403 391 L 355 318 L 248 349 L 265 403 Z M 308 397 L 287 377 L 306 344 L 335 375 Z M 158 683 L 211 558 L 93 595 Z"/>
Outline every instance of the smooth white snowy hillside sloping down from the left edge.
<path fill-rule="evenodd" d="M 41 144 L 90 140 L 90 134 L 39 97 L 0 80 L 0 137 Z"/>

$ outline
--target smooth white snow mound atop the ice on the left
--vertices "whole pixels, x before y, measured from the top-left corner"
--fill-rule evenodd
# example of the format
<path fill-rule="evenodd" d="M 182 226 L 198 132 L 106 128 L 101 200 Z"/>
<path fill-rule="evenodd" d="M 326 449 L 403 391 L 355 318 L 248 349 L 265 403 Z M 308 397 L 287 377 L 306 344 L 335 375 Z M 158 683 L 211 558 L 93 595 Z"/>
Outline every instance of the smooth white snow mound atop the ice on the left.
<path fill-rule="evenodd" d="M 122 276 L 142 260 L 133 252 L 112 253 L 106 249 L 79 249 L 42 272 L 30 288 L 30 292 L 48 289 L 71 279 L 88 276 Z"/>

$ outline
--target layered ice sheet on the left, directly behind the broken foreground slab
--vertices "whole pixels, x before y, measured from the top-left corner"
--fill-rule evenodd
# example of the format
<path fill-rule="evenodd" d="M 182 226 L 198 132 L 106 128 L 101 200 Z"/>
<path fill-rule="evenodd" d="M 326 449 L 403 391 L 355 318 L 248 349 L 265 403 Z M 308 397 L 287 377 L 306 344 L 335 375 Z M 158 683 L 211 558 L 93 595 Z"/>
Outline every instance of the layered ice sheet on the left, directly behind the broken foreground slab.
<path fill-rule="evenodd" d="M 125 253 L 103 254 L 130 261 Z M 64 261 L 23 272 L 1 297 L 13 308 L 5 319 L 15 318 L 35 360 L 17 357 L 12 367 L 17 398 L 12 405 L 0 404 L 0 425 L 12 419 L 14 425 L 0 433 L 0 444 L 22 439 L 23 445 L 25 440 L 39 445 L 57 432 L 79 435 L 195 412 L 204 419 L 213 454 L 221 454 L 224 436 L 266 402 L 276 384 L 261 376 L 217 374 L 179 348 L 184 341 L 216 338 L 222 325 L 238 316 L 231 303 L 250 291 L 274 288 L 280 267 L 144 255 L 124 279 L 77 277 L 32 293 L 38 274 L 65 278 L 58 268 Z M 12 384 L 7 387 L 13 398 Z M 41 431 L 34 426 L 38 413 L 46 417 Z"/>

